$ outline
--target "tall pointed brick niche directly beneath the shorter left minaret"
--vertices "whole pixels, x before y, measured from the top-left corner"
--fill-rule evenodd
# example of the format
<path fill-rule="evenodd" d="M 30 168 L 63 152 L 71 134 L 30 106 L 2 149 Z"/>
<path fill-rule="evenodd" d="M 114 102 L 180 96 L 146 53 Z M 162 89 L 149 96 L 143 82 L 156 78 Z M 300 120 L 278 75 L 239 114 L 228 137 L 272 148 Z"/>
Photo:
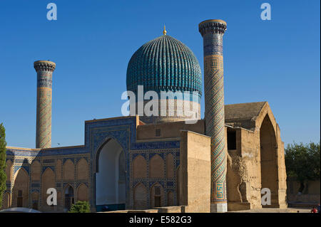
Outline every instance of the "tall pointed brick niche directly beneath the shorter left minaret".
<path fill-rule="evenodd" d="M 47 190 L 49 188 L 56 188 L 55 173 L 50 167 L 47 167 L 41 176 L 41 209 L 44 211 L 54 210 L 54 207 L 47 204 L 47 197 L 49 196 L 49 194 L 47 194 Z"/>

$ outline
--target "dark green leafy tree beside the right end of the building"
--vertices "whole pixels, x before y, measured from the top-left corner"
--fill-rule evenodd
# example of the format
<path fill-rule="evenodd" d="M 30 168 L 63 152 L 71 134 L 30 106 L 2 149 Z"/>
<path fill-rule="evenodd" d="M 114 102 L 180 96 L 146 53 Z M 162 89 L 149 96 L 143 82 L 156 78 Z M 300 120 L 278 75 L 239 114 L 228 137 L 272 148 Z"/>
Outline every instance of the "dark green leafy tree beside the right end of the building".
<path fill-rule="evenodd" d="M 285 167 L 287 176 L 300 181 L 299 191 L 302 192 L 305 181 L 320 179 L 320 142 L 287 144 Z"/>

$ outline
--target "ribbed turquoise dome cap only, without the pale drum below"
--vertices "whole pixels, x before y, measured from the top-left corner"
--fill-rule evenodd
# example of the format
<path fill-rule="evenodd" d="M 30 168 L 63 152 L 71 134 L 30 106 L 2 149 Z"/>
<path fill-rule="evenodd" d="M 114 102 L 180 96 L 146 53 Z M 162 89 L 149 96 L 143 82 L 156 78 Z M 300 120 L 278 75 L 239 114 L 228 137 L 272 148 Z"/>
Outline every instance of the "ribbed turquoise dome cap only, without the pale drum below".
<path fill-rule="evenodd" d="M 198 91 L 202 75 L 194 53 L 177 39 L 163 35 L 145 43 L 136 51 L 127 68 L 127 90 L 137 93 L 137 86 L 148 90 Z"/>

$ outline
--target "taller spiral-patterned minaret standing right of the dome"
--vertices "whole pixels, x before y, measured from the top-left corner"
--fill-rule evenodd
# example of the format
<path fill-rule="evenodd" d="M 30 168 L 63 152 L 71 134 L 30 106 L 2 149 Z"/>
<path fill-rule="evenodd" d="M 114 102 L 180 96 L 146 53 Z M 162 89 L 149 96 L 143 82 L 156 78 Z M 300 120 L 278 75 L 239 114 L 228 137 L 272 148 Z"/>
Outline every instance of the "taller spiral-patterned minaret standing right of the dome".
<path fill-rule="evenodd" d="M 198 25 L 203 36 L 205 133 L 211 137 L 211 212 L 228 211 L 223 83 L 223 35 L 226 22 L 207 20 Z"/>

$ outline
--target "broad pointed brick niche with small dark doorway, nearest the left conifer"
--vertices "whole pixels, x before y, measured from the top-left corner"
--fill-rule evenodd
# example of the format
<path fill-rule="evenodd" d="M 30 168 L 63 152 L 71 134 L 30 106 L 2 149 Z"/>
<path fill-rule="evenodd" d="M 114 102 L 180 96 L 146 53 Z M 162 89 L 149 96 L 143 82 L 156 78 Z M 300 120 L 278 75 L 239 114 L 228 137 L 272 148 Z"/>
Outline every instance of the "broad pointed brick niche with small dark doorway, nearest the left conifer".
<path fill-rule="evenodd" d="M 29 174 L 21 167 L 14 176 L 13 206 L 28 207 Z"/>

